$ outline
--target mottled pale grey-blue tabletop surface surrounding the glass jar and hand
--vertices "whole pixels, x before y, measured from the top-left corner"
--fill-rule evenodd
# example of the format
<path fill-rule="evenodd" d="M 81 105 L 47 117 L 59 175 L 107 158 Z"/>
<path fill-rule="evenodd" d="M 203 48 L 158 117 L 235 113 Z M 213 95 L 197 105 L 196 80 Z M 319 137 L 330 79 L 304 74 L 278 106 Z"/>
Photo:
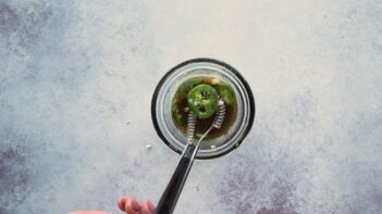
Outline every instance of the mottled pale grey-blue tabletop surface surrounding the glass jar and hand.
<path fill-rule="evenodd" d="M 242 72 L 257 115 L 176 213 L 382 213 L 381 20 L 381 0 L 0 0 L 0 213 L 158 202 L 178 155 L 151 95 L 199 56 Z"/>

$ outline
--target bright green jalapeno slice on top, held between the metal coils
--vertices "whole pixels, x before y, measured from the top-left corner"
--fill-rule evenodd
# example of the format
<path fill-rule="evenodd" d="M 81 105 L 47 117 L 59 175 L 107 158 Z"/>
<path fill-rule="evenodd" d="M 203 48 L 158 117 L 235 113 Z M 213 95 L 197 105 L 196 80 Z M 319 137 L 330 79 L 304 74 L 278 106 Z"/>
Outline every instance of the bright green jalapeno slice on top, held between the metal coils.
<path fill-rule="evenodd" d="M 198 118 L 208 118 L 218 109 L 218 92 L 213 87 L 200 84 L 187 96 L 187 105 Z"/>

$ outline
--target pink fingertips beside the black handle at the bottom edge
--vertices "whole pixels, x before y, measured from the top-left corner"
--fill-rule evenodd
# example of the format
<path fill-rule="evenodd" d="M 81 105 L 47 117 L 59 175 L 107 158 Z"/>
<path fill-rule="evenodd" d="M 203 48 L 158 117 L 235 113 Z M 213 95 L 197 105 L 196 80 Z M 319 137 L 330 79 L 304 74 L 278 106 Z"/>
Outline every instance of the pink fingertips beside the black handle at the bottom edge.
<path fill-rule="evenodd" d="M 150 200 L 139 204 L 135 199 L 122 197 L 118 201 L 118 206 L 126 214 L 152 214 L 156 207 Z"/>

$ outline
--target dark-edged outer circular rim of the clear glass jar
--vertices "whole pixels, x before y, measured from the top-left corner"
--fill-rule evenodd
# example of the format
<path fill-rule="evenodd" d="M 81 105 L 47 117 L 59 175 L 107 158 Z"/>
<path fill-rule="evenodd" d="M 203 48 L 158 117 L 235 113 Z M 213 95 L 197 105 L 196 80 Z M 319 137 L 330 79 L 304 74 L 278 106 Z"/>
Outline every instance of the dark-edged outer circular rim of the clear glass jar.
<path fill-rule="evenodd" d="M 163 127 L 164 125 L 164 110 L 161 106 L 161 103 L 159 101 L 162 101 L 160 99 L 164 99 L 164 96 L 168 91 L 163 91 L 167 89 L 167 86 L 169 85 L 169 81 L 171 81 L 171 78 L 175 78 L 174 75 L 176 75 L 177 72 L 182 72 L 182 68 L 187 67 L 187 66 L 196 66 L 196 65 L 211 65 L 214 66 L 215 72 L 222 72 L 226 73 L 226 75 L 230 78 L 235 79 L 237 81 L 237 87 L 239 87 L 239 92 L 241 97 L 243 99 L 243 108 L 244 108 L 244 117 L 243 117 L 243 124 L 239 126 L 239 130 L 237 136 L 234 136 L 233 139 L 230 139 L 231 141 L 235 140 L 235 142 L 227 143 L 225 147 L 226 148 L 220 148 L 220 150 L 199 150 L 198 154 L 196 155 L 196 159 L 213 159 L 218 156 L 222 156 L 224 154 L 230 153 L 234 149 L 236 149 L 244 140 L 244 138 L 248 135 L 249 130 L 252 127 L 254 119 L 255 119 L 255 98 L 254 95 L 250 90 L 250 87 L 248 83 L 244 79 L 244 77 L 231 65 L 213 60 L 213 59 L 206 59 L 206 58 L 199 58 L 199 59 L 193 59 L 185 61 L 173 68 L 171 68 L 159 81 L 158 86 L 155 89 L 155 92 L 152 95 L 152 100 L 151 100 L 151 118 L 153 126 L 156 128 L 157 134 L 159 137 L 163 140 L 163 142 L 170 147 L 172 150 L 174 150 L 177 153 L 182 153 L 183 148 L 180 143 L 176 143 L 174 139 L 173 133 L 171 130 L 167 130 L 168 127 Z M 220 68 L 220 70 L 218 70 Z M 224 71 L 223 71 L 224 70 Z M 224 74 L 225 74 L 224 73 Z M 170 80 L 169 80 L 170 79 Z M 230 79 L 232 80 L 232 79 Z M 171 83 L 170 83 L 171 84 Z M 163 89 L 164 86 L 164 89 Z M 167 86 L 167 87 L 165 87 Z M 162 101 L 163 102 L 163 101 Z M 238 106 L 239 108 L 239 106 Z M 162 113 L 161 113 L 162 112 Z M 164 129 L 164 130 L 163 130 Z M 170 135 L 169 135 L 170 133 Z M 182 143 L 184 144 L 184 143 Z"/>

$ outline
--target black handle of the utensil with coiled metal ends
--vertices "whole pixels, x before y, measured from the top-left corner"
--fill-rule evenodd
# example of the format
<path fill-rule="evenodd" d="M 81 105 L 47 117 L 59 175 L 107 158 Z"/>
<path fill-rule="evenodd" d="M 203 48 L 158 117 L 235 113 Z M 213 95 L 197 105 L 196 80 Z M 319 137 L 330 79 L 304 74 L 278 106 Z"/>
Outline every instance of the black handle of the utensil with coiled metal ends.
<path fill-rule="evenodd" d="M 159 200 L 156 214 L 171 214 L 174 211 L 197 150 L 197 146 L 187 143 L 183 151 L 181 161 L 177 163 L 175 172 Z"/>

